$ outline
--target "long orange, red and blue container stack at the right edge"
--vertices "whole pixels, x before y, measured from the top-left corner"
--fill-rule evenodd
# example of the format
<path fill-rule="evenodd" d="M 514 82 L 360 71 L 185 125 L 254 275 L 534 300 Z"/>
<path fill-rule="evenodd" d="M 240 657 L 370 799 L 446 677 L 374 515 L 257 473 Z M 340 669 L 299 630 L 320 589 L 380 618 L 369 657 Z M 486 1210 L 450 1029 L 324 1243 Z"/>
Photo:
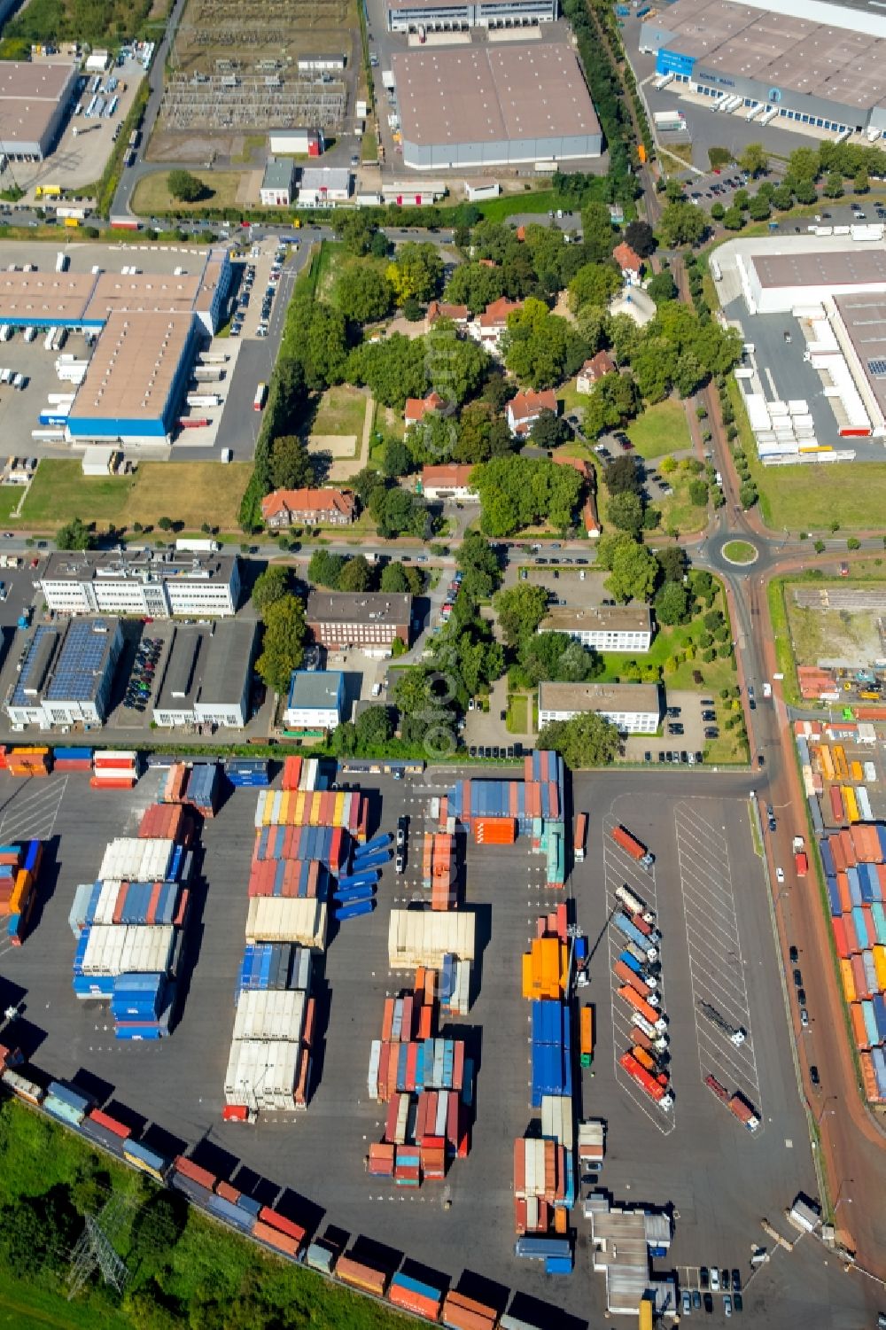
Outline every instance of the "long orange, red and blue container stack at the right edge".
<path fill-rule="evenodd" d="M 886 1103 L 886 826 L 818 842 L 843 998 L 870 1103 Z"/>

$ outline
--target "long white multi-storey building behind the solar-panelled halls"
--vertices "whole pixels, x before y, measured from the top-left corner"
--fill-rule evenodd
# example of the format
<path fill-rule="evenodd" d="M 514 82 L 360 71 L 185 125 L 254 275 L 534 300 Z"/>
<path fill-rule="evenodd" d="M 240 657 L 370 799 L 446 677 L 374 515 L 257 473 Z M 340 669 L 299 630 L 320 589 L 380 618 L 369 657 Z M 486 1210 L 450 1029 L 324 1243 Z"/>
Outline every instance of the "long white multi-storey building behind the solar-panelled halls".
<path fill-rule="evenodd" d="M 40 591 L 63 614 L 137 614 L 148 618 L 225 617 L 237 612 L 237 556 L 144 551 L 49 555 Z"/>

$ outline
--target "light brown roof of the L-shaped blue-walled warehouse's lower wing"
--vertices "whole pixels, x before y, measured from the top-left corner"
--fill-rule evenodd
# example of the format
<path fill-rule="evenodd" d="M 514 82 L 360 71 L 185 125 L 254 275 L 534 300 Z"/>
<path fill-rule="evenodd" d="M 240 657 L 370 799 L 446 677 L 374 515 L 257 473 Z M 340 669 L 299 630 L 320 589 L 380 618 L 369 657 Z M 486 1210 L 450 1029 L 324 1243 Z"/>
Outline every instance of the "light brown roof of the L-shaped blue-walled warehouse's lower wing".
<path fill-rule="evenodd" d="M 194 326 L 188 314 L 112 314 L 93 351 L 71 419 L 160 416 Z"/>

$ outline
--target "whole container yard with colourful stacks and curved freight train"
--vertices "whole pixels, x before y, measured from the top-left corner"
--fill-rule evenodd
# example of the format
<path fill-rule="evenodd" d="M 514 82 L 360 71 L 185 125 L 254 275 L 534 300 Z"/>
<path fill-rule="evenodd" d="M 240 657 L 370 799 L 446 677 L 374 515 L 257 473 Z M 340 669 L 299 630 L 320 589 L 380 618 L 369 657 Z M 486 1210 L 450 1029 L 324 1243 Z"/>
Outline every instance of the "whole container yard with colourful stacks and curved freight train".
<path fill-rule="evenodd" d="M 28 782 L 0 822 L 8 845 L 60 846 L 35 946 L 9 950 L 3 966 L 45 1027 L 31 1056 L 48 1075 L 25 1055 L 7 1059 L 3 1081 L 217 1221 L 419 1317 L 577 1330 L 601 1321 L 611 1295 L 605 1279 L 589 1278 L 583 1170 L 592 1182 L 600 1174 L 599 1196 L 615 1197 L 612 1213 L 593 1201 L 601 1230 L 604 1220 L 617 1229 L 617 1206 L 632 1196 L 677 1208 L 674 1242 L 684 1246 L 669 1262 L 685 1265 L 712 1258 L 702 1245 L 714 1230 L 713 1256 L 746 1264 L 760 1214 L 777 1217 L 798 1189 L 814 1194 L 802 1115 L 777 1072 L 784 1029 L 770 1031 L 776 1060 L 761 1068 L 776 1132 L 737 1132 L 738 1115 L 722 1112 L 704 1077 L 737 1103 L 741 1083 L 696 1064 L 674 805 L 637 802 L 636 774 L 569 779 L 559 758 L 536 753 L 504 778 L 367 773 L 359 790 L 341 790 L 329 761 L 133 754 L 126 774 L 110 778 L 121 783 L 100 790 L 90 783 L 97 754 L 63 751 L 55 771 L 53 754 L 43 754 L 48 777 Z M 0 773 L 9 790 L 17 781 Z M 686 781 L 705 809 L 710 778 Z M 587 810 L 579 838 L 573 801 Z M 733 871 L 742 864 L 753 880 L 746 802 L 716 802 L 710 818 L 736 847 Z M 652 857 L 649 871 L 628 857 L 640 876 L 619 883 L 628 898 L 617 898 L 617 912 L 636 934 L 609 919 L 612 825 Z M 350 914 L 353 903 L 369 911 Z M 738 910 L 766 956 L 756 906 L 742 898 Z M 76 983 L 102 990 L 76 1003 L 72 931 L 77 948 L 94 932 L 96 975 Z M 649 1020 L 629 998 L 609 996 L 623 955 L 633 982 L 617 987 Z M 158 968 L 136 968 L 148 963 Z M 114 974 L 122 964 L 132 968 Z M 152 975 L 162 976 L 162 994 Z M 661 975 L 664 1015 L 649 1001 Z M 777 1009 L 769 984 L 766 972 L 752 995 L 758 1019 Z M 114 1029 L 128 1020 L 162 1025 L 157 1008 L 170 991 L 172 1037 L 152 1035 L 150 1049 L 118 1045 Z M 624 1009 L 621 1043 L 609 1001 Z M 624 1092 L 625 1056 L 653 1080 L 664 1075 L 656 1067 L 666 1067 L 668 1085 L 673 1077 L 680 1115 L 666 1152 L 657 1107 Z M 97 1084 L 106 1097 L 96 1097 Z M 718 1168 L 726 1148 L 730 1170 Z M 716 1212 L 700 1201 L 713 1166 Z M 643 1286 L 656 1286 L 652 1262 L 669 1241 L 651 1221 L 653 1232 L 631 1275 Z M 806 1250 L 792 1261 L 809 1262 Z M 804 1277 L 808 1287 L 822 1278 L 808 1264 Z"/>

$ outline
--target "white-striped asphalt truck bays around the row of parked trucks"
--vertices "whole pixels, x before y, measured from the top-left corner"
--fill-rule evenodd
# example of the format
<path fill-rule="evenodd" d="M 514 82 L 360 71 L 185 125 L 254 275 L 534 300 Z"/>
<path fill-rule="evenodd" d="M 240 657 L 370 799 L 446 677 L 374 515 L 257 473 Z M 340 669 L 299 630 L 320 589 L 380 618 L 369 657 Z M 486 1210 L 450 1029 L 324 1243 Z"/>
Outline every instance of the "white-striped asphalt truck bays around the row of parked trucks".
<path fill-rule="evenodd" d="M 676 1111 L 672 1107 L 669 1112 L 663 1112 L 656 1109 L 651 1099 L 648 1099 L 643 1091 L 636 1085 L 636 1083 L 628 1076 L 628 1073 L 619 1064 L 619 1055 L 628 1051 L 632 1047 L 631 1029 L 633 1027 L 632 1011 L 633 1008 L 619 998 L 619 988 L 621 987 L 619 978 L 613 972 L 612 967 L 619 959 L 619 955 L 624 950 L 621 942 L 619 940 L 619 934 L 615 924 L 611 922 L 612 915 L 620 908 L 619 900 L 616 898 L 616 888 L 625 886 L 629 891 L 633 891 L 651 910 L 655 910 L 656 919 L 659 918 L 659 903 L 656 899 L 656 874 L 655 867 L 651 872 L 641 868 L 636 859 L 632 859 L 616 842 L 612 839 L 612 829 L 617 826 L 615 818 L 607 817 L 603 823 L 603 864 L 605 871 L 605 894 L 607 894 L 607 944 L 609 948 L 609 995 L 611 995 L 611 1011 L 612 1011 L 612 1063 L 615 1069 L 616 1083 L 621 1087 L 624 1093 L 631 1099 L 641 1113 L 649 1119 L 649 1121 L 657 1127 L 663 1136 L 669 1136 L 677 1125 Z M 659 944 L 661 951 L 661 946 Z M 664 970 L 664 966 L 663 966 Z M 659 996 L 661 999 L 661 1009 L 665 1009 L 664 1003 L 664 990 L 661 979 L 659 979 Z"/>

